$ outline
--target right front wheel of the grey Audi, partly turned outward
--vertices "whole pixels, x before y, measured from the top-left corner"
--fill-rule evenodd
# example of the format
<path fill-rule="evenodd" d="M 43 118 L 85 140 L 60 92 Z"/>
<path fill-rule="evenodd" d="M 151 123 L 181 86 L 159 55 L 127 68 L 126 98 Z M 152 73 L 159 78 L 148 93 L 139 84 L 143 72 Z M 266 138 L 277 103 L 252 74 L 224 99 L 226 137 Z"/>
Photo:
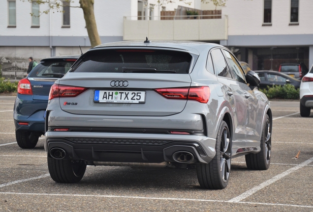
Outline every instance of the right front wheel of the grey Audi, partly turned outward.
<path fill-rule="evenodd" d="M 271 120 L 266 114 L 265 122 L 261 136 L 261 151 L 257 154 L 246 155 L 246 164 L 248 169 L 252 170 L 266 170 L 270 167 L 271 162 L 271 139 L 272 139 Z"/>

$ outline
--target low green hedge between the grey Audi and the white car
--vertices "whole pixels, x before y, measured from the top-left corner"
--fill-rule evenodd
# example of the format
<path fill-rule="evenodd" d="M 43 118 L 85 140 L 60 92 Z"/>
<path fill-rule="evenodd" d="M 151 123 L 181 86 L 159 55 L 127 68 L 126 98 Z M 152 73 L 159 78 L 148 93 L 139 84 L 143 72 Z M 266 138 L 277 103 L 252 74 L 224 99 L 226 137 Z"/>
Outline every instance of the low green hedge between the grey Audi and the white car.
<path fill-rule="evenodd" d="M 300 89 L 295 89 L 291 84 L 267 86 L 267 89 L 260 89 L 269 99 L 291 99 L 298 100 L 300 98 Z"/>

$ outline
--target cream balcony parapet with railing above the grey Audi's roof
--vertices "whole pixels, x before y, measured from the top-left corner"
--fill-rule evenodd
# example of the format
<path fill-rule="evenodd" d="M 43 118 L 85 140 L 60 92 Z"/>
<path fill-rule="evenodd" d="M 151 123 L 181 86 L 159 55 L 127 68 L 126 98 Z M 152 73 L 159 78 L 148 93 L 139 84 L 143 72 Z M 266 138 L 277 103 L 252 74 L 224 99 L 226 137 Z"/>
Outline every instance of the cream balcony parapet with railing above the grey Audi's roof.
<path fill-rule="evenodd" d="M 227 40 L 225 15 L 124 17 L 124 40 Z M 146 20 L 144 20 L 146 19 Z"/>

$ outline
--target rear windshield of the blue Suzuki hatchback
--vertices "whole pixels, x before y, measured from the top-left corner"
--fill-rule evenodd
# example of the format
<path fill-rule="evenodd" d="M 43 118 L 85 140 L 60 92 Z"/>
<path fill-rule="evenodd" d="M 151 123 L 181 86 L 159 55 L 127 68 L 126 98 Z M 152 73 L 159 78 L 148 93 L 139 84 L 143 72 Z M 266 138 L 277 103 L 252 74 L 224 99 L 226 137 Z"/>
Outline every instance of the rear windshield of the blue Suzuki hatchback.
<path fill-rule="evenodd" d="M 75 62 L 75 59 L 70 61 L 53 60 L 40 62 L 30 73 L 30 78 L 62 78 Z"/>

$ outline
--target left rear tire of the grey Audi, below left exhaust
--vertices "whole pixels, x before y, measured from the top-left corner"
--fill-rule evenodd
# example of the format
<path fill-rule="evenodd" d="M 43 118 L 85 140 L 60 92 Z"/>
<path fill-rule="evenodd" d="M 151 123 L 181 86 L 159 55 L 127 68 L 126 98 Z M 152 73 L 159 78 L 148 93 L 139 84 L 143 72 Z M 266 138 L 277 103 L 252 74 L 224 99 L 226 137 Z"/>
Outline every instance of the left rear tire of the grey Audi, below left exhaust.
<path fill-rule="evenodd" d="M 57 183 L 78 183 L 86 171 L 84 160 L 54 159 L 48 156 L 48 169 Z"/>

